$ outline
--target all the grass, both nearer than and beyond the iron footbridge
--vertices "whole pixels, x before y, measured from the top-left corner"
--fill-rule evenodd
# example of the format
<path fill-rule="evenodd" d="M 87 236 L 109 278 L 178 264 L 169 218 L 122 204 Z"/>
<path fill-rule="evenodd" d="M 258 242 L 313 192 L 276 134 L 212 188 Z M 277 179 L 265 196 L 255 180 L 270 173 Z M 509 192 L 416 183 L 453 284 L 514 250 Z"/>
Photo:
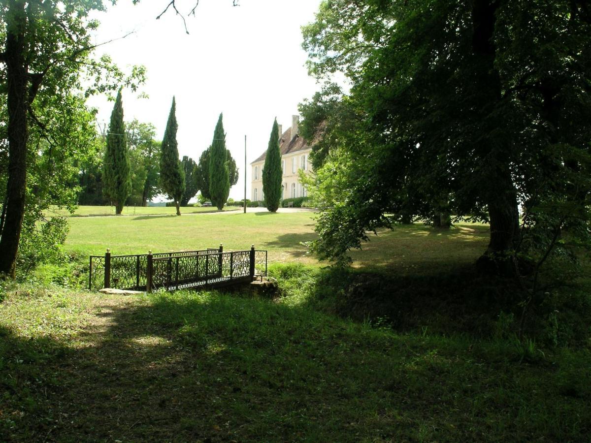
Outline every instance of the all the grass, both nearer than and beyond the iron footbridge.
<path fill-rule="evenodd" d="M 588 293 L 548 297 L 540 340 L 521 342 L 515 285 L 466 266 L 488 227 L 397 226 L 343 271 L 300 245 L 311 217 L 70 218 L 67 247 L 84 253 L 255 243 L 296 263 L 271 266 L 272 299 L 5 289 L 0 441 L 588 439 Z"/>

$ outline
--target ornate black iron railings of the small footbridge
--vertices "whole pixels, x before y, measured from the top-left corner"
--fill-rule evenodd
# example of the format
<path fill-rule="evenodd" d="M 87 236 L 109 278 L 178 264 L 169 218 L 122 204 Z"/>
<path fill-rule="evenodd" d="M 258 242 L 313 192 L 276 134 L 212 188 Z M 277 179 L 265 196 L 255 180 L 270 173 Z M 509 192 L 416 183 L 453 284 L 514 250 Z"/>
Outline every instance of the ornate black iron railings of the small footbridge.
<path fill-rule="evenodd" d="M 204 249 L 157 254 L 90 256 L 89 289 L 151 292 L 222 286 L 267 275 L 267 251 Z"/>

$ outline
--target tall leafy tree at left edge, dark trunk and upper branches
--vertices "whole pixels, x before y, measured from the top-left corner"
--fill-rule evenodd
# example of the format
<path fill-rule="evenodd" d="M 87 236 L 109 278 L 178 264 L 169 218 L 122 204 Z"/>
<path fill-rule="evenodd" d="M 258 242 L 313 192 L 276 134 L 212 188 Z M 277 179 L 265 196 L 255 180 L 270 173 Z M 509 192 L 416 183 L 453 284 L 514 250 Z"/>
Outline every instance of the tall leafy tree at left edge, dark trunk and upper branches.
<path fill-rule="evenodd" d="M 59 132 L 53 129 L 66 123 L 67 108 L 77 98 L 77 92 L 113 90 L 122 82 L 123 74 L 108 57 L 90 59 L 96 44 L 90 42 L 89 29 L 98 25 L 88 18 L 92 10 L 103 9 L 101 2 L 83 0 L 27 2 L 15 0 L 0 3 L 0 17 L 5 28 L 0 29 L 0 77 L 6 80 L 1 95 L 7 106 L 6 119 L 8 165 L 5 193 L 0 217 L 0 274 L 14 276 L 22 221 L 27 200 L 27 154 L 33 126 L 41 138 L 55 151 Z M 80 83 L 80 73 L 86 70 L 94 82 Z M 109 75 L 105 82 L 105 70 Z M 135 79 L 143 77 L 142 69 L 134 70 Z M 133 80 L 126 83 L 135 87 Z M 43 97 L 43 99 L 40 99 Z M 62 112 L 47 118 L 44 113 L 61 100 Z M 70 100 L 70 102 L 68 102 Z M 58 105 L 59 108 L 59 105 Z M 63 132 L 70 136 L 72 132 Z M 36 144 L 36 141 L 35 141 Z M 68 146 L 63 146 L 68 149 Z M 30 146 L 34 149 L 33 146 Z M 60 146 L 60 149 L 62 146 Z M 53 157 L 53 154 L 50 155 Z M 60 164 L 56 163 L 56 168 Z M 67 175 L 69 177 L 69 175 Z"/>

